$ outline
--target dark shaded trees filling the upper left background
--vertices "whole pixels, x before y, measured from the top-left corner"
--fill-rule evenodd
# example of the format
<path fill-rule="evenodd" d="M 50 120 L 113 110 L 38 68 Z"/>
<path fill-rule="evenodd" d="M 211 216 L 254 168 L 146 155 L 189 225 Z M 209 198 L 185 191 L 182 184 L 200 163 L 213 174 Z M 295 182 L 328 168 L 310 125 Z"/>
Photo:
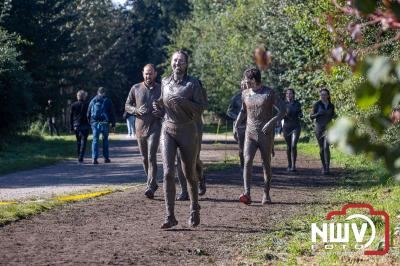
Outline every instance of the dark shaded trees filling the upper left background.
<path fill-rule="evenodd" d="M 0 0 L 0 56 L 7 59 L 0 62 L 7 70 L 0 72 L 2 119 L 34 121 L 52 98 L 58 120 L 67 124 L 76 91 L 91 97 L 99 86 L 108 89 L 121 116 L 142 67 L 165 60 L 163 46 L 188 12 L 187 1 L 178 0 L 128 1 L 125 7 L 112 0 Z M 2 123 L 2 131 L 9 124 Z"/>

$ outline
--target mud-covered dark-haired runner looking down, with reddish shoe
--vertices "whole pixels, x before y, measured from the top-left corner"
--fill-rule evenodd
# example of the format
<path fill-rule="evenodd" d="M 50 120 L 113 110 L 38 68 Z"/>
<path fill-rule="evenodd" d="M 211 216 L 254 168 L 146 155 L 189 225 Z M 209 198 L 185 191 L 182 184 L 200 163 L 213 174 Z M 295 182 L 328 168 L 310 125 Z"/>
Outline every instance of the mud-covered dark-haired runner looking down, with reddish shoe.
<path fill-rule="evenodd" d="M 250 68 L 244 72 L 246 90 L 242 95 L 242 109 L 235 123 L 238 126 L 243 119 L 246 121 L 246 134 L 244 142 L 244 193 L 239 200 L 245 204 L 251 203 L 250 182 L 253 169 L 253 160 L 257 150 L 260 150 L 263 161 L 264 193 L 261 203 L 271 203 L 269 194 L 271 188 L 271 153 L 276 122 L 285 115 L 285 105 L 274 90 L 264 87 L 261 83 L 261 73 L 257 68 Z M 277 114 L 273 115 L 273 109 Z"/>

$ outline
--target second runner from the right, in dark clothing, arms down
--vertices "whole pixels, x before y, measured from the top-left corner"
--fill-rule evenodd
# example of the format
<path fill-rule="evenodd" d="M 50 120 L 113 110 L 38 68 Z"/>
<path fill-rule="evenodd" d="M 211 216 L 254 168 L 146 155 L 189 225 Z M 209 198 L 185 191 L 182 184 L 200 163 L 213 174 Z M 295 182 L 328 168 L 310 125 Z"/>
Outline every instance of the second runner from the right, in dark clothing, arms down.
<path fill-rule="evenodd" d="M 286 90 L 286 116 L 283 118 L 283 136 L 287 145 L 288 172 L 296 171 L 297 142 L 300 137 L 300 118 L 303 116 L 301 104 L 295 100 L 293 89 Z"/>

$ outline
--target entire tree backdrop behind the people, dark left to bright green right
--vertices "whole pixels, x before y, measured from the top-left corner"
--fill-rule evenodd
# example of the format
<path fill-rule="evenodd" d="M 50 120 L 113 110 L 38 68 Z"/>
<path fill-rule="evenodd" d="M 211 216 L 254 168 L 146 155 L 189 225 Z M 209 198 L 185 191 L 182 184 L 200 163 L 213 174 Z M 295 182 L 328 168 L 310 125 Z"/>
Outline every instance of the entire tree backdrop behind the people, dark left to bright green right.
<path fill-rule="evenodd" d="M 362 1 L 353 5 L 358 2 Z M 373 12 L 385 2 L 396 1 L 367 0 L 361 9 Z M 355 33 L 354 27 L 349 30 L 350 23 L 361 25 L 368 19 L 344 14 L 335 3 L 128 0 L 118 5 L 111 0 L 0 0 L 0 134 L 26 132 L 44 121 L 48 99 L 55 100 L 60 121 L 67 124 L 76 91 L 84 89 L 94 96 L 99 86 L 108 89 L 122 117 L 127 93 L 141 81 L 142 67 L 153 63 L 161 75 L 167 75 L 169 56 L 177 49 L 189 53 L 189 72 L 207 89 L 207 112 L 224 119 L 243 71 L 254 66 L 254 49 L 264 47 L 271 53 L 271 63 L 263 71 L 263 81 L 280 93 L 286 88 L 296 90 L 305 132 L 312 129 L 311 106 L 319 89 L 326 87 L 339 116 L 349 117 L 357 127 L 353 144 L 360 146 L 357 141 L 367 136 L 367 142 L 398 147 L 399 128 L 384 119 L 387 111 L 376 104 L 377 90 L 364 86 L 365 75 L 354 73 L 352 64 L 335 64 L 331 59 L 338 47 L 359 51 L 359 61 L 386 56 L 389 61 L 381 60 L 382 71 L 374 75 L 382 77 L 385 64 L 399 57 L 399 42 L 392 41 L 397 31 L 371 24 Z M 376 46 L 377 42 L 384 45 Z M 394 91 L 386 98 L 393 98 Z M 382 146 L 371 146 L 367 152 L 391 157 L 387 166 L 395 167 L 400 149 L 389 152 Z"/>

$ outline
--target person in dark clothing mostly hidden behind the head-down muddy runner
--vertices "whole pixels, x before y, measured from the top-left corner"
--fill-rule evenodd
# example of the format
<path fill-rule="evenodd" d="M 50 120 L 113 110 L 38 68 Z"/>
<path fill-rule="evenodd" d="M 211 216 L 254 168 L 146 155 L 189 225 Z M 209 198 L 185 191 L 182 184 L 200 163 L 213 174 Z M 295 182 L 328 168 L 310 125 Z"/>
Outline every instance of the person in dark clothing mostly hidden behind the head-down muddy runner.
<path fill-rule="evenodd" d="M 231 102 L 228 106 L 228 110 L 226 111 L 226 115 L 232 118 L 234 121 L 238 117 L 240 113 L 240 109 L 242 108 L 242 91 L 244 89 L 244 83 L 240 84 L 241 90 L 237 92 L 231 99 Z M 244 136 L 246 132 L 246 119 L 243 119 L 240 125 L 237 127 L 233 127 L 233 137 L 238 142 L 239 145 L 239 159 L 240 159 L 240 168 L 243 171 L 244 167 L 244 157 L 243 157 L 243 149 L 244 149 Z"/>

